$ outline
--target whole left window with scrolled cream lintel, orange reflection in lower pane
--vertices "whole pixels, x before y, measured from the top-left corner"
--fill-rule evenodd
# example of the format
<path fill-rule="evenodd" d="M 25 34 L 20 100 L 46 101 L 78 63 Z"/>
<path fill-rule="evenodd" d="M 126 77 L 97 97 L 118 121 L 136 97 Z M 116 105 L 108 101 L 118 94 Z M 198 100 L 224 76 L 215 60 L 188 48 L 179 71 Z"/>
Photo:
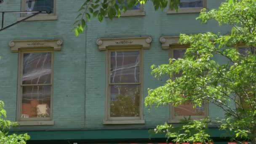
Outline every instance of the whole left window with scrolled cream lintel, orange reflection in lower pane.
<path fill-rule="evenodd" d="M 17 121 L 20 125 L 53 125 L 53 51 L 62 40 L 13 40 L 19 52 Z"/>

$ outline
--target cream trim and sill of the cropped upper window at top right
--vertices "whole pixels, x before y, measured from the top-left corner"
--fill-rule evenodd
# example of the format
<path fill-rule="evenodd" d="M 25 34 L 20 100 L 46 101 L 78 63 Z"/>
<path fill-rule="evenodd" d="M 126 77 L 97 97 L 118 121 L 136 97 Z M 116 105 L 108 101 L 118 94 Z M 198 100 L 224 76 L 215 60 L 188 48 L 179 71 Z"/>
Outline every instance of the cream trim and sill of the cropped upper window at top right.
<path fill-rule="evenodd" d="M 203 0 L 203 7 L 196 7 L 196 8 L 179 8 L 178 13 L 200 13 L 201 9 L 207 8 L 207 0 Z M 169 1 L 170 2 L 170 1 Z M 168 10 L 168 14 L 176 14 L 177 12 L 173 10 Z"/>

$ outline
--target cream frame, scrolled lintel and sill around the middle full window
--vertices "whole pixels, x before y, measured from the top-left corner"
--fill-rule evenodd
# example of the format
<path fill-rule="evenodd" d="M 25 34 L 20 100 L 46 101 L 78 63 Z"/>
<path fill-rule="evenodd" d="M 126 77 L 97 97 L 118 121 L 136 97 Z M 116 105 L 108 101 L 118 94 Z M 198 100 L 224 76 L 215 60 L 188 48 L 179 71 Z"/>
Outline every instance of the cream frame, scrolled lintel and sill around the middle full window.
<path fill-rule="evenodd" d="M 149 48 L 151 37 L 101 38 L 97 40 L 99 50 L 108 50 L 106 55 L 106 99 L 103 124 L 144 124 L 143 120 L 143 48 Z M 140 110 L 139 117 L 110 117 L 109 101 L 109 53 L 111 51 L 140 51 Z"/>

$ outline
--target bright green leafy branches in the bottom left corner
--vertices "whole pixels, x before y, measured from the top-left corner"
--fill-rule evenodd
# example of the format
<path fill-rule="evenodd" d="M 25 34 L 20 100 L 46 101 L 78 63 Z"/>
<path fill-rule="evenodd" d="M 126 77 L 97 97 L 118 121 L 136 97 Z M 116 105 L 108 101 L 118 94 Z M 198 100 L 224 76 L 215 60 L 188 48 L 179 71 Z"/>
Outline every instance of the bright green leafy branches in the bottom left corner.
<path fill-rule="evenodd" d="M 0 144 L 26 144 L 26 141 L 30 139 L 27 133 L 20 135 L 15 133 L 9 134 L 9 129 L 18 124 L 5 119 L 6 111 L 4 109 L 4 103 L 0 101 Z"/>

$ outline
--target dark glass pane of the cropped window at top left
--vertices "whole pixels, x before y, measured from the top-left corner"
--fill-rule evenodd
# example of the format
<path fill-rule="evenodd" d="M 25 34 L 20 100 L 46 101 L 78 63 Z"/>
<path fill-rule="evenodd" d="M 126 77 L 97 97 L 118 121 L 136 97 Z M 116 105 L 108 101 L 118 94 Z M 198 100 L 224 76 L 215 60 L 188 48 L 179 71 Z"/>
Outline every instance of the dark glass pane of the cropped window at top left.
<path fill-rule="evenodd" d="M 26 11 L 51 11 L 53 13 L 53 7 L 53 0 L 26 0 Z"/>

